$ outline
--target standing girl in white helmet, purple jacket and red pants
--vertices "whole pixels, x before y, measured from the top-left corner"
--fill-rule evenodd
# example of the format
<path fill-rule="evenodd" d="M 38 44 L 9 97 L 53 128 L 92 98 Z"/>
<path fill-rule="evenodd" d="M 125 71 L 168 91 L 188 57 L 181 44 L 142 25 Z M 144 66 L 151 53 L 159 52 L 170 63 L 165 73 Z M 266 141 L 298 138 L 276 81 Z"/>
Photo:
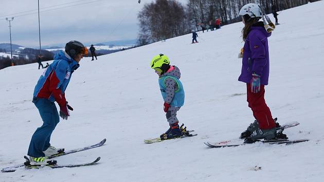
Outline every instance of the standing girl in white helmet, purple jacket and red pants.
<path fill-rule="evenodd" d="M 262 18 L 259 5 L 247 4 L 242 7 L 239 14 L 245 25 L 242 30 L 245 43 L 239 81 L 246 83 L 248 106 L 256 119 L 240 138 L 245 138 L 246 142 L 275 138 L 277 137 L 276 123 L 264 100 L 264 85 L 268 84 L 269 77 L 267 38 L 271 33 L 266 32 L 263 22 L 258 22 Z"/>

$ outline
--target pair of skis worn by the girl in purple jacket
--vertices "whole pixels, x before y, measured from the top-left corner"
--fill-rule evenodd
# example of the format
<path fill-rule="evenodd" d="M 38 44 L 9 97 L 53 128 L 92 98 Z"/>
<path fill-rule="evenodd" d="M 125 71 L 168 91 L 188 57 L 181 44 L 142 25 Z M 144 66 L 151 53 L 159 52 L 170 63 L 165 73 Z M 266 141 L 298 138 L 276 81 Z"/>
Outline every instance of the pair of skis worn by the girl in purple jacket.
<path fill-rule="evenodd" d="M 276 130 L 279 132 L 282 132 L 284 129 L 292 128 L 297 125 L 299 125 L 298 122 L 284 124 L 284 125 L 280 126 L 279 128 L 277 128 Z M 294 143 L 300 143 L 300 142 L 304 142 L 304 141 L 309 141 L 309 139 L 301 139 L 301 140 L 269 139 L 269 140 L 260 140 L 257 142 L 268 143 L 268 144 L 294 144 Z M 210 148 L 238 147 L 241 145 L 249 144 L 249 143 L 244 143 L 244 142 L 240 142 L 239 144 L 232 144 L 231 140 L 225 140 L 225 141 L 221 141 L 221 142 L 206 141 L 204 143 Z"/>

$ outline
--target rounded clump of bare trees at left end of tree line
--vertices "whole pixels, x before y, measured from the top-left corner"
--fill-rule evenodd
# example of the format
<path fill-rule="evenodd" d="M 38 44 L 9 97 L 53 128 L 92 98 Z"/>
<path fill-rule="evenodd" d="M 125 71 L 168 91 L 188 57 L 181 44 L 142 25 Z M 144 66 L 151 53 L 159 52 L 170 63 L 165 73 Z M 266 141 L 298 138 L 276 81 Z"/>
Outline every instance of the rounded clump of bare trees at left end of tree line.
<path fill-rule="evenodd" d="M 141 45 L 183 35 L 189 31 L 186 8 L 175 0 L 156 0 L 138 13 Z"/>

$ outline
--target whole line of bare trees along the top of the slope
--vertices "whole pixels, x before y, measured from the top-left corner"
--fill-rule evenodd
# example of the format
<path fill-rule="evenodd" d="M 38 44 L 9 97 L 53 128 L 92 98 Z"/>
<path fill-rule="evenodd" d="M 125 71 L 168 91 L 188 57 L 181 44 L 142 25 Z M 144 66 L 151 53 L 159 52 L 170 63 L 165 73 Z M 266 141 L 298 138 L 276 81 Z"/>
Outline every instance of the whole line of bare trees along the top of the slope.
<path fill-rule="evenodd" d="M 138 45 L 170 39 L 200 30 L 200 25 L 215 22 L 222 25 L 241 21 L 239 11 L 248 3 L 259 4 L 264 13 L 293 8 L 320 0 L 188 0 L 182 5 L 176 0 L 156 0 L 138 13 Z"/>

